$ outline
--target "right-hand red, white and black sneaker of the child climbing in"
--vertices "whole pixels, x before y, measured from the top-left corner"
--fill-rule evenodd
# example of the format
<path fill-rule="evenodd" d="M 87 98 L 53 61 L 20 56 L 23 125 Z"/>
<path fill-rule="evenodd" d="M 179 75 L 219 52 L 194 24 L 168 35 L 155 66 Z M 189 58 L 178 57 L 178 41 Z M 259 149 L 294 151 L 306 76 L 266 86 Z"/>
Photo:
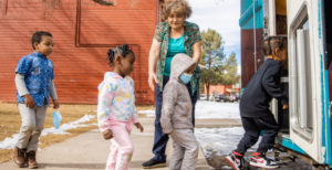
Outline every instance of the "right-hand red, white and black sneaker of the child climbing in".
<path fill-rule="evenodd" d="M 252 153 L 252 157 L 250 158 L 250 166 L 266 169 L 279 168 L 274 160 L 267 158 L 264 153 L 260 152 Z"/>

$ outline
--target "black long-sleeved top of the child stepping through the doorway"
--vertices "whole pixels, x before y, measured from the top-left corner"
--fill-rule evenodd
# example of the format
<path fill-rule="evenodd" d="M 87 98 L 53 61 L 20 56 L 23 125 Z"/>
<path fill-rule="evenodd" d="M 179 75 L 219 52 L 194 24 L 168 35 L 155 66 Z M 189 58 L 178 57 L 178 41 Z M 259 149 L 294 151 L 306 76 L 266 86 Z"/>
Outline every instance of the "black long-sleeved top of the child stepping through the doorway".
<path fill-rule="evenodd" d="M 281 64 L 268 59 L 259 67 L 248 83 L 240 100 L 242 117 L 262 117 L 271 114 L 270 102 L 277 98 L 281 104 L 287 104 L 288 98 L 280 84 Z"/>

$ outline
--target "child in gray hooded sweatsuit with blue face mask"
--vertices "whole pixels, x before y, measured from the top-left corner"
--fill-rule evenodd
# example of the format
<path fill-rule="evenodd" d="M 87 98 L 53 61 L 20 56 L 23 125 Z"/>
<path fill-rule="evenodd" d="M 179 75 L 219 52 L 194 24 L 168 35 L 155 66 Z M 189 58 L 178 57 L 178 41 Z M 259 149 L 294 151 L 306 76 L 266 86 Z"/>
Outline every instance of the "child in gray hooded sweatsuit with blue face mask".
<path fill-rule="evenodd" d="M 177 54 L 172 61 L 170 77 L 164 88 L 160 124 L 163 132 L 173 139 L 172 170 L 195 170 L 198 142 L 191 123 L 191 100 L 186 87 L 196 63 L 186 54 Z"/>

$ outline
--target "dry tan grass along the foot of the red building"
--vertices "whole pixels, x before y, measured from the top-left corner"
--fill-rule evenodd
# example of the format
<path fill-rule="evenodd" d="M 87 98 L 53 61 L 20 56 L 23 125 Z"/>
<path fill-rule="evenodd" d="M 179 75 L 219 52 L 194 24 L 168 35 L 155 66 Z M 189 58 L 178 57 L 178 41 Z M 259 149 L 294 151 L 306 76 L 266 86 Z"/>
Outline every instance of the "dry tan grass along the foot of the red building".
<path fill-rule="evenodd" d="M 154 109 L 154 106 L 137 106 L 138 110 Z M 71 123 L 82 118 L 84 115 L 95 115 L 96 105 L 61 105 L 60 113 L 62 115 L 62 124 Z M 21 127 L 21 116 L 17 104 L 0 103 L 0 141 L 7 137 L 11 137 L 19 132 Z M 96 123 L 96 118 L 85 123 L 91 125 Z M 46 111 L 44 128 L 52 127 L 52 107 Z M 48 135 L 40 138 L 40 148 L 48 147 L 50 145 L 64 141 L 68 138 L 75 137 L 82 132 L 86 132 L 96 126 L 80 127 L 76 129 L 68 130 L 66 135 Z M 0 162 L 12 159 L 12 149 L 0 149 Z"/>

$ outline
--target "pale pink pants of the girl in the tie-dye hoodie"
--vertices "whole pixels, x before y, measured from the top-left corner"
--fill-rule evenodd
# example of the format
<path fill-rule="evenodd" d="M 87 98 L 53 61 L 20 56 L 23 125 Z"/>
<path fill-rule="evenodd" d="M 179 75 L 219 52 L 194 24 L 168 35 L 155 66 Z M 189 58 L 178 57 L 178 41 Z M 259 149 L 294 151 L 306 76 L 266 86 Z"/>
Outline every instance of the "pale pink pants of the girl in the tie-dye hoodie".
<path fill-rule="evenodd" d="M 131 131 L 133 121 L 112 121 L 110 155 L 106 162 L 106 170 L 128 170 L 134 151 Z"/>

